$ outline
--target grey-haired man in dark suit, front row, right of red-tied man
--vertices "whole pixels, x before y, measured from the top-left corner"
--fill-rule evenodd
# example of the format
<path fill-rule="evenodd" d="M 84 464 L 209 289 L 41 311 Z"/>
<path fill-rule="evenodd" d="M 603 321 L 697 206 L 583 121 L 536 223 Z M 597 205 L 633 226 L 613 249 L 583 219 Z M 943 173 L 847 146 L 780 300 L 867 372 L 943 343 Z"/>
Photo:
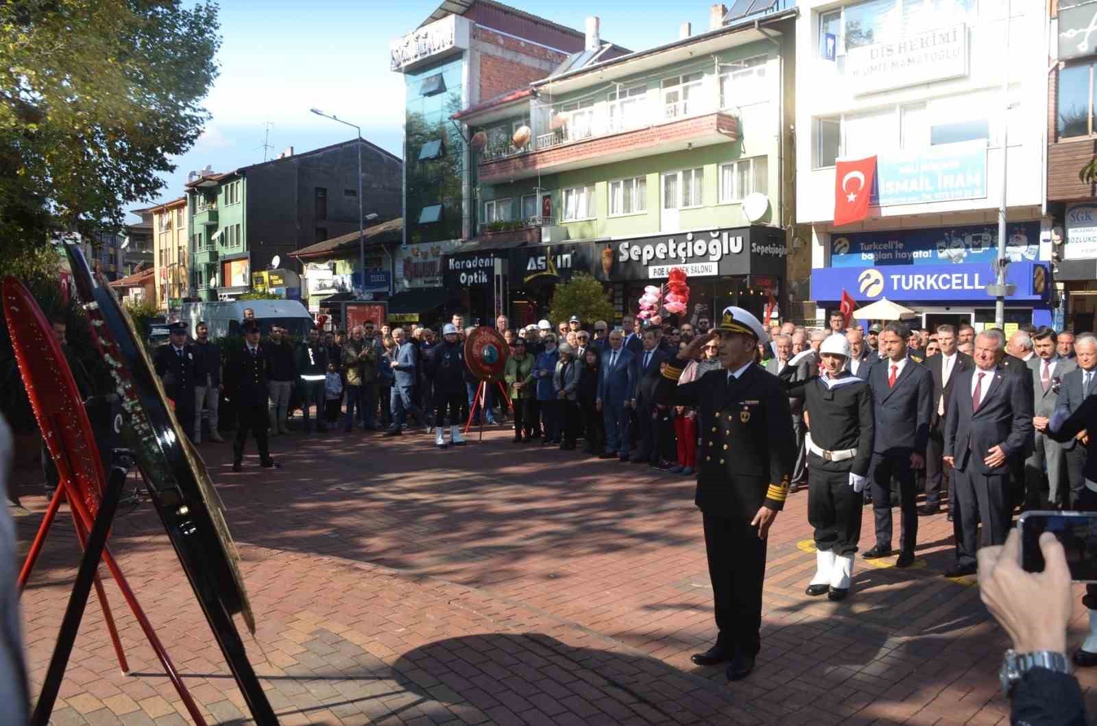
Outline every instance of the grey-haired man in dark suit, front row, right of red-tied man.
<path fill-rule="evenodd" d="M 957 378 L 948 409 L 945 463 L 955 479 L 957 564 L 945 577 L 975 574 L 980 522 L 982 546 L 1000 545 L 1009 530 L 1009 463 L 1024 456 L 1032 439 L 1032 396 L 1020 376 L 998 365 L 1004 348 L 997 330 L 975 337 L 975 367 Z"/>

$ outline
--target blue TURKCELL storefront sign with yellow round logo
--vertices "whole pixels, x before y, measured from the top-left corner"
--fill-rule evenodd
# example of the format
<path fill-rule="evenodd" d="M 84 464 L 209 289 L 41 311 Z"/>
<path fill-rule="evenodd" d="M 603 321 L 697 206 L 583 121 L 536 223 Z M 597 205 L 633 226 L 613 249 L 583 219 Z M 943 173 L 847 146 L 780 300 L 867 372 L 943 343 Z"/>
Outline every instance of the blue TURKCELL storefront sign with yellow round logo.
<path fill-rule="evenodd" d="M 1039 262 L 1015 262 L 1006 268 L 1006 282 L 1017 286 L 1010 300 L 1040 300 L 1033 291 L 1032 271 Z M 841 299 L 841 291 L 856 300 L 896 302 L 980 302 L 993 298 L 986 286 L 995 282 L 989 264 L 936 264 L 917 266 L 821 268 L 812 270 L 812 297 L 816 300 Z"/>

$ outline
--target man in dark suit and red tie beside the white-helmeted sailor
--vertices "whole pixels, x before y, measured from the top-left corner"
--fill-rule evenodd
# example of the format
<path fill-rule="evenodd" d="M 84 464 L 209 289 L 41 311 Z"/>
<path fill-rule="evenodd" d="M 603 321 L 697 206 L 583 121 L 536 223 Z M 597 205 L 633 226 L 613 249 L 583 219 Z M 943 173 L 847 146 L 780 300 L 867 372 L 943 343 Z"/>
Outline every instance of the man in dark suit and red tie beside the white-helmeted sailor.
<path fill-rule="evenodd" d="M 885 358 L 869 372 L 877 424 L 872 462 L 869 464 L 877 544 L 864 553 L 864 558 L 891 555 L 891 485 L 895 479 L 902 512 L 896 567 L 914 564 L 914 546 L 918 540 L 914 472 L 926 466 L 926 442 L 932 411 L 934 383 L 929 371 L 907 355 L 908 337 L 902 325 L 889 322 L 880 333 L 880 349 Z"/>

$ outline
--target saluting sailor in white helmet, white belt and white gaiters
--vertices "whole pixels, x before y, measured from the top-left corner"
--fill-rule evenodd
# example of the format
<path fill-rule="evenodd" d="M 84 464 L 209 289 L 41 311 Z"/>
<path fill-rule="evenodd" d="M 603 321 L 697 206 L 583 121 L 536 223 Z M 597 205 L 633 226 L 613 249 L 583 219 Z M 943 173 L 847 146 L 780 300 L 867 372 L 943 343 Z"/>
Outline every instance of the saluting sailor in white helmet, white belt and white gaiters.
<path fill-rule="evenodd" d="M 872 458 L 872 392 L 845 370 L 849 355 L 846 336 L 835 333 L 823 341 L 817 354 L 808 348 L 793 358 L 780 376 L 790 395 L 804 397 L 808 428 L 807 521 L 815 528 L 816 568 L 805 592 L 830 600 L 849 593 L 861 537 L 861 491 Z M 801 361 L 815 356 L 817 376 L 789 381 Z"/>

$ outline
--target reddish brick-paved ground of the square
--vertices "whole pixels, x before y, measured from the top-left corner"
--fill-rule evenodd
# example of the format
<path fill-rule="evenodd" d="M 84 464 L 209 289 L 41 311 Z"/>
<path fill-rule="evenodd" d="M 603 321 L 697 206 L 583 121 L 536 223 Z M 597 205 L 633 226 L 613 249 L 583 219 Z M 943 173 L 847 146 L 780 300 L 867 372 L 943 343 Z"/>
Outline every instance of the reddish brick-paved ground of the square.
<path fill-rule="evenodd" d="M 793 495 L 770 535 L 758 668 L 728 684 L 689 662 L 713 636 L 692 483 L 509 439 L 437 452 L 422 435 L 281 436 L 283 469 L 252 458 L 240 474 L 227 445 L 203 447 L 259 621 L 245 640 L 282 723 L 1008 722 L 1006 642 L 973 581 L 940 577 L 943 515 L 921 520 L 914 568 L 858 560 L 853 594 L 832 603 L 802 594 L 814 556 Z M 24 547 L 45 508 L 34 491 L 21 490 Z M 247 723 L 150 507 L 121 518 L 112 543 L 208 721 Z M 23 597 L 35 688 L 76 556 L 58 526 Z M 54 723 L 184 723 L 108 590 L 133 672 L 118 672 L 93 602 Z M 1085 617 L 1079 605 L 1074 642 Z M 1082 682 L 1097 713 L 1097 674 Z"/>

